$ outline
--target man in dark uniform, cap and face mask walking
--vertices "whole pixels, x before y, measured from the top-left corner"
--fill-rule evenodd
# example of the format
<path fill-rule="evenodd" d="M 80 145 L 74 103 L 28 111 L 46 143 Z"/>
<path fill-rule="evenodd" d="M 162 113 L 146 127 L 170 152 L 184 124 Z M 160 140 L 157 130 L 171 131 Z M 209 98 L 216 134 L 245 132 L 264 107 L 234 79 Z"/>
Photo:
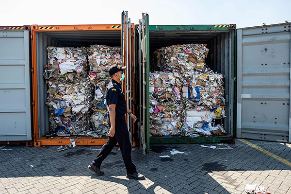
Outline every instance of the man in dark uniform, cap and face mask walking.
<path fill-rule="evenodd" d="M 131 161 L 131 143 L 129 141 L 129 131 L 125 120 L 125 115 L 129 114 L 133 122 L 136 117 L 126 106 L 125 95 L 122 93 L 120 82 L 124 80 L 124 70 L 126 67 L 113 65 L 109 69 L 111 81 L 106 89 L 106 107 L 109 111 L 108 123 L 110 126 L 109 139 L 102 146 L 98 156 L 88 166 L 88 168 L 97 173 L 98 176 L 104 175 L 100 171 L 102 161 L 109 155 L 116 143 L 119 144 L 122 158 L 127 170 L 127 178 L 144 179 L 145 176 L 136 172 L 135 165 Z"/>

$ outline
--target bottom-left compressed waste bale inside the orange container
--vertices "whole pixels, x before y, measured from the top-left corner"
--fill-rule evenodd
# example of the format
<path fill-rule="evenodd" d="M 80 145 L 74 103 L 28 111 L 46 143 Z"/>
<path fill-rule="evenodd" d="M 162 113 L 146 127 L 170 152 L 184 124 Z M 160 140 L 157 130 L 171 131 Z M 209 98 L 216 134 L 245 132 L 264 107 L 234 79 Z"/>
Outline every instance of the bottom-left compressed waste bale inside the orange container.
<path fill-rule="evenodd" d="M 74 83 L 47 80 L 50 132 L 79 135 L 90 128 L 90 83 L 79 78 Z"/>

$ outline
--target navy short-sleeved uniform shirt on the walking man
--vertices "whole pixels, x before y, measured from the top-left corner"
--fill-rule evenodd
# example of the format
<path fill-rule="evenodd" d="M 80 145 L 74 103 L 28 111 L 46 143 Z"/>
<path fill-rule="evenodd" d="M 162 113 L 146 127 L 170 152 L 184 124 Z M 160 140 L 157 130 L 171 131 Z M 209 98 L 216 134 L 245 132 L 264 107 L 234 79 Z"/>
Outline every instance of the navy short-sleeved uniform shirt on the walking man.
<path fill-rule="evenodd" d="M 116 105 L 115 114 L 126 114 L 127 106 L 125 95 L 122 93 L 121 84 L 115 80 L 111 80 L 106 88 L 106 107 L 109 112 L 109 105 Z"/>

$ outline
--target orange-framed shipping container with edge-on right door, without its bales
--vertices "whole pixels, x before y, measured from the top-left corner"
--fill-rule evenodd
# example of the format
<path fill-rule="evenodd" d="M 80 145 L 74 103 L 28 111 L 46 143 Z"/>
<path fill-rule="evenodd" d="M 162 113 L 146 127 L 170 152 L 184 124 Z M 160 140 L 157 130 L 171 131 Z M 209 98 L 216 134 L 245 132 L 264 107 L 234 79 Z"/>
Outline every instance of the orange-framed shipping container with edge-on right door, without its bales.
<path fill-rule="evenodd" d="M 127 19 L 127 20 L 125 20 Z M 47 102 L 47 84 L 43 78 L 44 66 L 47 63 L 48 46 L 63 46 L 63 47 L 89 47 L 90 45 L 107 45 L 107 46 L 122 46 L 123 65 L 128 66 L 126 77 L 123 86 L 132 85 L 131 80 L 131 63 L 133 56 L 131 50 L 131 37 L 133 37 L 129 29 L 134 25 L 128 23 L 128 18 L 124 18 L 123 25 L 49 25 L 38 26 L 32 25 L 32 105 L 33 105 L 33 135 L 34 146 L 42 145 L 64 145 L 70 143 L 70 140 L 65 137 L 50 138 L 45 135 L 49 132 L 49 110 L 45 105 Z M 133 31 L 132 31 L 133 32 Z M 133 66 L 132 66 L 133 67 Z M 127 98 L 133 98 L 132 92 L 127 92 Z M 132 108 L 132 104 L 129 104 Z M 133 129 L 131 123 L 129 131 Z M 102 145 L 107 139 L 96 139 L 93 137 L 75 137 L 76 145 Z M 135 142 L 133 141 L 133 145 Z"/>

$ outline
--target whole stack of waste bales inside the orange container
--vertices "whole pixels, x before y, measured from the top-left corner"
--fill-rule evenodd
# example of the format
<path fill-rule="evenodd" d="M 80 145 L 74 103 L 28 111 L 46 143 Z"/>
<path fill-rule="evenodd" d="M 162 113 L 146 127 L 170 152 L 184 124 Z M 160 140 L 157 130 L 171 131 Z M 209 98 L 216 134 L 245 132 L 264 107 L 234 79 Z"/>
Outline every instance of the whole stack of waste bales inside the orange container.
<path fill-rule="evenodd" d="M 50 132 L 57 136 L 108 133 L 105 91 L 109 67 L 121 64 L 120 47 L 48 47 L 44 77 L 48 84 Z"/>

